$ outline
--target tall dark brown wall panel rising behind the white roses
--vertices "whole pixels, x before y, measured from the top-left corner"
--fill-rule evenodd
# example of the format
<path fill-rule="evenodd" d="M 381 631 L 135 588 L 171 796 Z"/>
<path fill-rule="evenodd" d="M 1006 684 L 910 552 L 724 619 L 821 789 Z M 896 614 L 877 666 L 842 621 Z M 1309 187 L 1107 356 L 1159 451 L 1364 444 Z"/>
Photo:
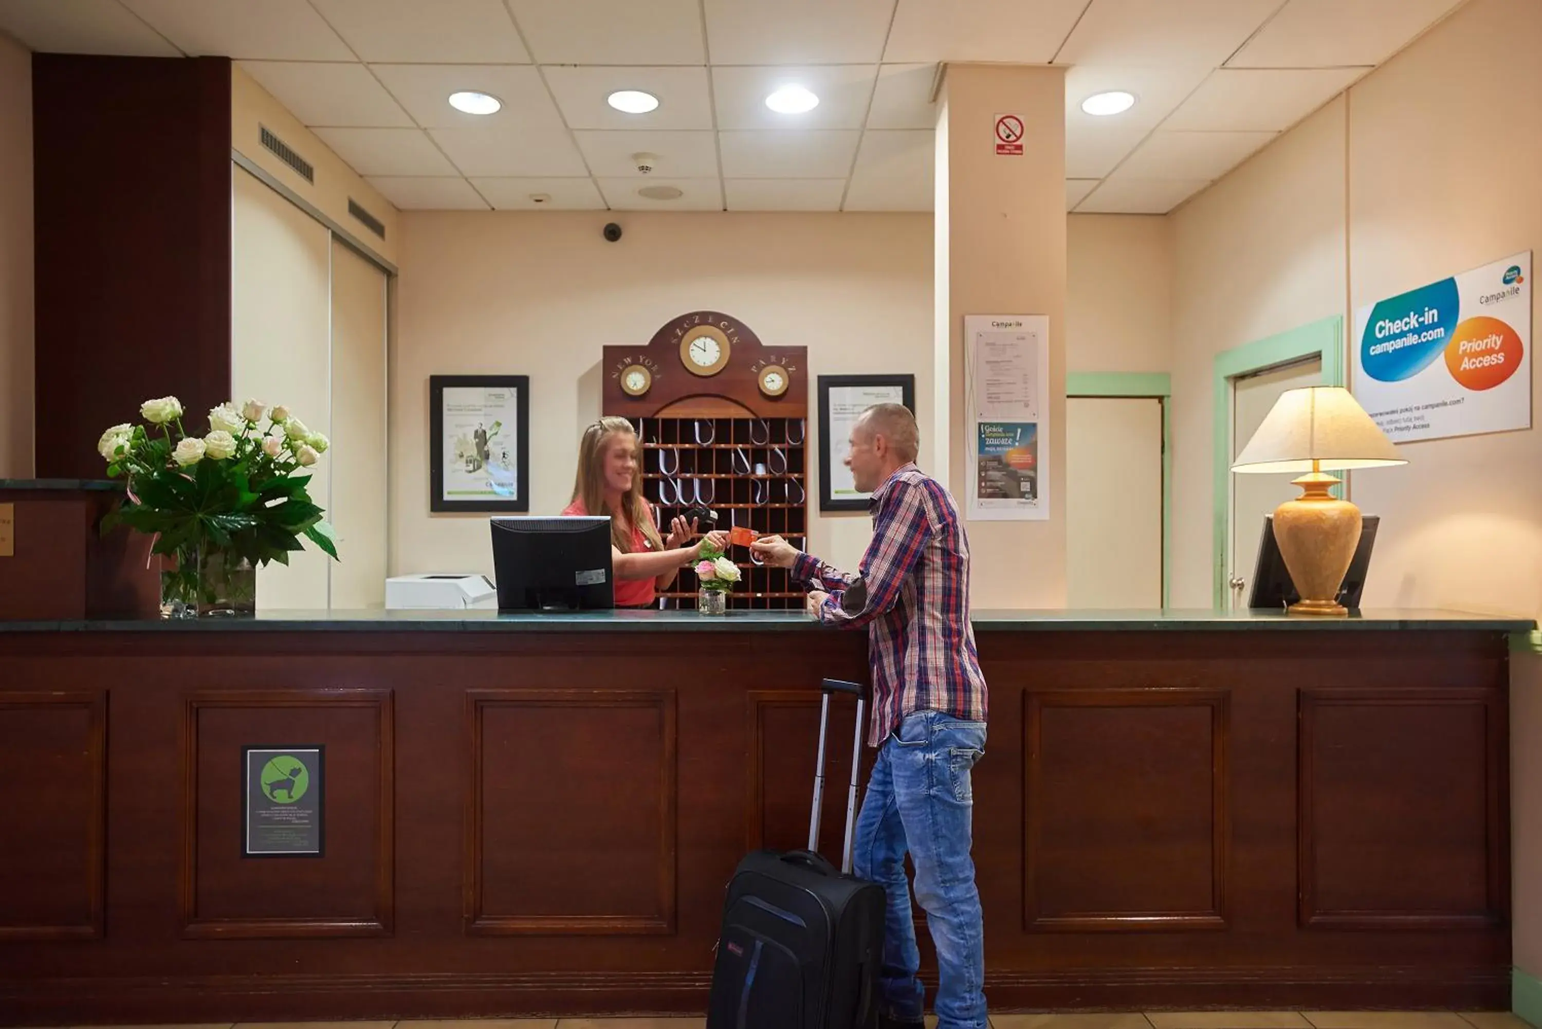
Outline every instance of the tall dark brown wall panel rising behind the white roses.
<path fill-rule="evenodd" d="M 99 478 L 140 401 L 230 393 L 230 62 L 34 54 L 32 125 L 37 475 Z"/>

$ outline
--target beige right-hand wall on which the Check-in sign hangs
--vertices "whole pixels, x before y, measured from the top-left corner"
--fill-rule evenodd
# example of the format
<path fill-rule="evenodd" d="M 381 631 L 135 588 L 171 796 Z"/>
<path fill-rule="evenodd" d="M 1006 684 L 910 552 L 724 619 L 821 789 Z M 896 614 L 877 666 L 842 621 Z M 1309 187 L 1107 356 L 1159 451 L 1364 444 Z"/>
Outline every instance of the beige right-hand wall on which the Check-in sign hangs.
<path fill-rule="evenodd" d="M 1175 603 L 1210 600 L 1217 352 L 1542 250 L 1539 39 L 1536 0 L 1473 0 L 1172 218 Z M 1366 605 L 1542 616 L 1542 427 L 1403 450 L 1351 481 L 1383 518 Z M 1542 659 L 1511 682 L 1516 964 L 1539 975 Z"/>

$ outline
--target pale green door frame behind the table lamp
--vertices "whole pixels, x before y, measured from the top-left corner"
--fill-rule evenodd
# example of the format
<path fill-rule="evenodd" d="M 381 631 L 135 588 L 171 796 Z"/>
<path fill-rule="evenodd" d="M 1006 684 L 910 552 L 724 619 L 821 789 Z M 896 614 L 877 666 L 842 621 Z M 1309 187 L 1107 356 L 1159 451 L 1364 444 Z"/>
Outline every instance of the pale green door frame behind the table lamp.
<path fill-rule="evenodd" d="M 1226 560 L 1231 545 L 1227 532 L 1227 514 L 1231 509 L 1231 474 L 1232 474 L 1232 404 L 1231 381 L 1244 375 L 1266 372 L 1281 364 L 1292 364 L 1308 358 L 1320 358 L 1323 363 L 1323 386 L 1345 384 L 1345 352 L 1343 352 L 1343 318 L 1334 315 L 1300 329 L 1281 332 L 1277 336 L 1244 342 L 1232 350 L 1215 355 L 1214 372 L 1214 569 L 1212 605 L 1217 611 L 1226 609 Z"/>

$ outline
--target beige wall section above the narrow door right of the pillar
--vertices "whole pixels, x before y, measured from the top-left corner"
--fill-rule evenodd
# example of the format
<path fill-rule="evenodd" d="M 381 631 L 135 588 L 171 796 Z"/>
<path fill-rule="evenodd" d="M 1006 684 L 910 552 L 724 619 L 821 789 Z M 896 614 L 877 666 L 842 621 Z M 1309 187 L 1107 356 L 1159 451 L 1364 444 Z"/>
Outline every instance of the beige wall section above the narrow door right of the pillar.
<path fill-rule="evenodd" d="M 1066 367 L 1166 372 L 1172 366 L 1172 221 L 1066 219 Z"/>

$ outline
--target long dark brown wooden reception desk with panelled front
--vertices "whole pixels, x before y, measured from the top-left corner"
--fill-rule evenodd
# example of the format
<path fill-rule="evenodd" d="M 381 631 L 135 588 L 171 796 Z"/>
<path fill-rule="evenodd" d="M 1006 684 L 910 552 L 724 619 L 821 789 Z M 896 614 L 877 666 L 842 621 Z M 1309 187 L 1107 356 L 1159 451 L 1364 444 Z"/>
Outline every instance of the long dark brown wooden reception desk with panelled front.
<path fill-rule="evenodd" d="M 1531 628 L 979 612 L 992 1007 L 1508 1009 Z M 865 663 L 771 612 L 0 623 L 0 1024 L 700 1014 Z"/>

